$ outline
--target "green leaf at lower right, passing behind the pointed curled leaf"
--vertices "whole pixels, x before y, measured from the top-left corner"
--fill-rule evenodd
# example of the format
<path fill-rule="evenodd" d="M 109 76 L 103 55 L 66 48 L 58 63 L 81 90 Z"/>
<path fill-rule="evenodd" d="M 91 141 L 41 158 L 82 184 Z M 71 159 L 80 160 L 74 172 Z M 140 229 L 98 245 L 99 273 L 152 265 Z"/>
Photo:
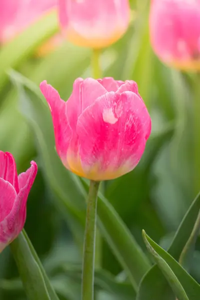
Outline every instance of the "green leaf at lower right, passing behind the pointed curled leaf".
<path fill-rule="evenodd" d="M 194 223 L 196 221 L 198 211 L 200 209 L 200 194 L 194 199 L 186 212 L 182 222 L 180 223 L 173 241 L 168 249 L 168 253 L 171 254 L 176 260 L 179 259 L 181 251 L 186 244 Z M 163 294 L 163 290 L 165 291 Z M 156 265 L 154 265 L 143 277 L 140 285 L 137 300 L 160 300 L 163 295 L 163 300 L 174 300 L 174 295 L 171 292 L 166 279 L 162 275 L 161 271 Z M 189 300 L 191 300 L 189 298 Z"/>

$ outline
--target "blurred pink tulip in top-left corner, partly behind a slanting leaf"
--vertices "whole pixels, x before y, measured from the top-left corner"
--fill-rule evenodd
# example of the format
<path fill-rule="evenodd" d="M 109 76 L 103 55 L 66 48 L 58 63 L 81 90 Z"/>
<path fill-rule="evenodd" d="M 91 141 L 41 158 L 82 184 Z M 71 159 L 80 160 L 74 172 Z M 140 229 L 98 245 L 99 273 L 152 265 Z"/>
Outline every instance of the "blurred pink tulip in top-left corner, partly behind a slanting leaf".
<path fill-rule="evenodd" d="M 0 0 L 0 43 L 6 43 L 36 21 L 44 13 L 56 8 L 57 0 Z M 39 53 L 47 52 L 61 38 L 50 39 Z"/>

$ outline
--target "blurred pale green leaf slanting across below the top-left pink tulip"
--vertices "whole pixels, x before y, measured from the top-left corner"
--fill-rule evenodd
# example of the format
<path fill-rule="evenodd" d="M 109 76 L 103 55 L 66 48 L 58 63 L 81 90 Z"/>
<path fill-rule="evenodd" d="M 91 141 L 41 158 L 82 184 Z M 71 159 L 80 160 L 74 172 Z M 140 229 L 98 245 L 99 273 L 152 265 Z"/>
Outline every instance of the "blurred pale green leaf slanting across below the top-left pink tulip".
<path fill-rule="evenodd" d="M 19 63 L 58 30 L 56 12 L 46 14 L 0 50 L 0 90 L 7 80 L 6 71 Z"/>

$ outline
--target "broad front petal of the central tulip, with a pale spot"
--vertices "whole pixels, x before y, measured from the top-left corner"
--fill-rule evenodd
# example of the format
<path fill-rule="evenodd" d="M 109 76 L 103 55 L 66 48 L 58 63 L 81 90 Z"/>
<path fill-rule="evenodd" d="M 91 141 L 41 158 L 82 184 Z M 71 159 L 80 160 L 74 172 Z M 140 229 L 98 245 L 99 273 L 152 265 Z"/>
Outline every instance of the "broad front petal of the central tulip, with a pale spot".
<path fill-rule="evenodd" d="M 108 92 L 77 121 L 79 155 L 86 177 L 118 177 L 138 163 L 145 147 L 149 115 L 133 92 Z"/>

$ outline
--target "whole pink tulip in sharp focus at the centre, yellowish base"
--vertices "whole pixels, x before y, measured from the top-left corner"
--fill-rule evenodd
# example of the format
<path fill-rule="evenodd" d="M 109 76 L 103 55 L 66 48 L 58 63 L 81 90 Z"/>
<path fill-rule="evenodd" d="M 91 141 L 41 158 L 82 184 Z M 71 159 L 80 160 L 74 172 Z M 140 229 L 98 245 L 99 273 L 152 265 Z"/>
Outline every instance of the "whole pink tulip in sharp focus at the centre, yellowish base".
<path fill-rule="evenodd" d="M 116 178 L 139 162 L 151 120 L 132 80 L 77 78 L 67 102 L 46 81 L 56 150 L 64 166 L 93 180 Z"/>

